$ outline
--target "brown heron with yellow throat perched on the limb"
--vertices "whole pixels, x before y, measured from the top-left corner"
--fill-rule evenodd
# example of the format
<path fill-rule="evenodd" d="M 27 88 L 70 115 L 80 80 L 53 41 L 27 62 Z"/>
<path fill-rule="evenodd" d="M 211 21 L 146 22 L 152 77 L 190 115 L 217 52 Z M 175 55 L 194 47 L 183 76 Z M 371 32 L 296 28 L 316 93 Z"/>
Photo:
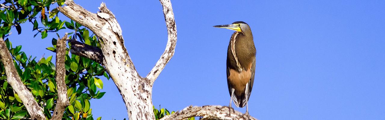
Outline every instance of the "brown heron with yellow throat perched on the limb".
<path fill-rule="evenodd" d="M 227 49 L 227 85 L 230 93 L 229 111 L 231 101 L 236 107 L 243 108 L 246 105 L 246 115 L 248 112 L 247 101 L 253 89 L 255 75 L 255 46 L 253 33 L 249 25 L 238 21 L 230 25 L 216 25 L 217 28 L 235 30 L 231 35 L 229 47 Z M 231 114 L 231 113 L 230 113 Z"/>

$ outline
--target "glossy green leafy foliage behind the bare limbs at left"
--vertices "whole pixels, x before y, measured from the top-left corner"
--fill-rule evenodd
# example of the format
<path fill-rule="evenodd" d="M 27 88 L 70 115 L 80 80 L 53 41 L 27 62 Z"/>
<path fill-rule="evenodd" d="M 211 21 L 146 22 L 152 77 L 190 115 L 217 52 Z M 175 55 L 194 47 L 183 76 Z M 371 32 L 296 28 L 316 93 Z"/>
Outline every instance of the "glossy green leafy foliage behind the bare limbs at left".
<path fill-rule="evenodd" d="M 20 51 L 22 46 L 12 47 L 12 42 L 8 38 L 10 30 L 15 28 L 20 34 L 21 25 L 31 23 L 33 31 L 37 31 L 33 37 L 40 34 L 41 38 L 46 38 L 49 33 L 56 33 L 59 30 L 70 30 L 72 32 L 69 34 L 73 34 L 70 38 L 75 37 L 88 45 L 100 47 L 97 37 L 90 35 L 89 30 L 79 23 L 72 20 L 70 22 L 60 20 L 55 7 L 50 10 L 50 7 L 55 4 L 63 5 L 64 0 L 5 0 L 5 2 L 1 0 L 0 3 L 2 3 L 0 5 L 0 37 L 5 39 L 22 82 L 32 92 L 40 107 L 44 109 L 45 116 L 50 119 L 57 101 L 55 65 L 52 62 L 52 56 L 37 60 L 36 57 L 32 58 Z M 57 36 L 59 37 L 58 34 Z M 52 46 L 46 49 L 56 52 L 57 39 L 52 38 L 51 42 Z M 71 55 L 69 49 L 67 48 L 65 56 L 65 84 L 70 105 L 65 108 L 63 119 L 94 120 L 89 100 L 103 97 L 105 92 L 97 90 L 97 88 L 103 88 L 103 82 L 99 76 L 107 79 L 109 76 L 99 63 Z M 0 119 L 30 118 L 17 93 L 14 93 L 12 87 L 8 85 L 5 69 L 1 62 L 0 108 Z M 100 120 L 100 117 L 97 120 Z"/>

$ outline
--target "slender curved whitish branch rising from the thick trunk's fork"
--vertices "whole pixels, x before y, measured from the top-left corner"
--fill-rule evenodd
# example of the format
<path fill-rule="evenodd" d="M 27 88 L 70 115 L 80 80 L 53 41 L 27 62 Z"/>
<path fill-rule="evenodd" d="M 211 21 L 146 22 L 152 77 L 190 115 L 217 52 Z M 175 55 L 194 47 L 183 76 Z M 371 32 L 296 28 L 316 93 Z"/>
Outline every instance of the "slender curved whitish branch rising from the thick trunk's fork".
<path fill-rule="evenodd" d="M 174 19 L 174 13 L 172 11 L 172 6 L 170 0 L 159 0 L 163 6 L 164 20 L 166 21 L 167 26 L 167 45 L 164 50 L 161 58 L 156 62 L 154 68 L 147 74 L 147 79 L 154 83 L 156 78 L 162 72 L 166 64 L 171 60 L 174 55 L 175 45 L 176 45 L 176 24 Z"/>

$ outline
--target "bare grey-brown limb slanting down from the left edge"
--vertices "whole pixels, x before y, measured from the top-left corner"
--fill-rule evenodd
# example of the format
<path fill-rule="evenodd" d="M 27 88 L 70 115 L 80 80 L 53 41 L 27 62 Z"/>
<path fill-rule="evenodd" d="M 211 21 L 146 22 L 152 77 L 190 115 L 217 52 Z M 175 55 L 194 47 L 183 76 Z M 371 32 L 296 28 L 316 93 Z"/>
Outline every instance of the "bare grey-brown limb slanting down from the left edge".
<path fill-rule="evenodd" d="M 35 97 L 25 87 L 23 82 L 20 80 L 19 74 L 16 71 L 15 65 L 10 52 L 8 51 L 7 45 L 3 38 L 0 37 L 0 59 L 4 64 L 5 73 L 7 75 L 7 82 L 12 86 L 13 90 L 18 94 L 20 100 L 22 100 L 24 106 L 27 108 L 29 115 L 32 120 L 45 120 L 43 108 L 37 104 Z"/>

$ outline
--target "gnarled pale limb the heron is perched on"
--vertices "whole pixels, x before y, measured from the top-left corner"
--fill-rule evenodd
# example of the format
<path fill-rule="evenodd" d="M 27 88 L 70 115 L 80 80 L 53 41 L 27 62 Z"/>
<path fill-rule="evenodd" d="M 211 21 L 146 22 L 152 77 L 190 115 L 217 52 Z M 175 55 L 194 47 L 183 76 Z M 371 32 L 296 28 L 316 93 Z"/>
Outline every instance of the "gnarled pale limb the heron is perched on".
<path fill-rule="evenodd" d="M 241 112 L 231 110 L 229 116 L 228 107 L 222 106 L 203 106 L 203 107 L 186 107 L 181 111 L 165 116 L 160 120 L 185 120 L 189 117 L 203 117 L 201 120 L 258 120 L 249 117 Z"/>

